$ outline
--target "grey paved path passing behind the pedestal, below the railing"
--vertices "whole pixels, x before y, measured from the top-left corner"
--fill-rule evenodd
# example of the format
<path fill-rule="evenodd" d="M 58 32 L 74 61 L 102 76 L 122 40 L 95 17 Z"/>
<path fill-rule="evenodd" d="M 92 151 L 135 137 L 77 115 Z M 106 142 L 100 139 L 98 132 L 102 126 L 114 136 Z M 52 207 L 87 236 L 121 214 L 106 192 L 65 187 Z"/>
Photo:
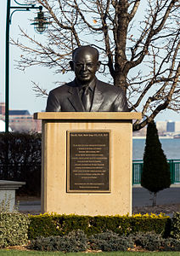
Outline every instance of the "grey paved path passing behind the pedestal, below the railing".
<path fill-rule="evenodd" d="M 147 189 L 141 187 L 133 187 L 132 189 L 132 206 L 133 207 L 146 207 L 151 206 L 150 200 L 152 195 L 149 194 Z M 170 189 L 161 190 L 157 194 L 157 205 L 163 204 L 180 204 L 180 186 L 171 187 Z M 20 201 L 20 212 L 41 212 L 40 201 Z"/>

